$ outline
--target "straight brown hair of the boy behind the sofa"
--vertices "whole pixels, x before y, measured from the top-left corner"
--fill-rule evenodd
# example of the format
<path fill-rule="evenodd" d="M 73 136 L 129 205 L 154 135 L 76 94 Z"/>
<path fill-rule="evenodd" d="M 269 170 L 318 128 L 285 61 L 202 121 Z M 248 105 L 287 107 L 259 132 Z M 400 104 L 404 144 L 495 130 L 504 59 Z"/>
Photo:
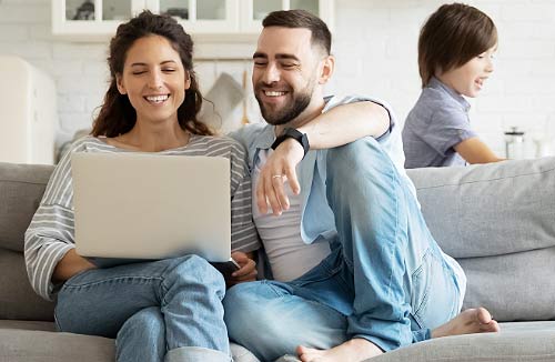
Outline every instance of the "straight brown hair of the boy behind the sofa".
<path fill-rule="evenodd" d="M 422 88 L 437 72 L 458 68 L 497 43 L 497 29 L 478 9 L 443 4 L 430 16 L 418 38 L 418 69 Z"/>

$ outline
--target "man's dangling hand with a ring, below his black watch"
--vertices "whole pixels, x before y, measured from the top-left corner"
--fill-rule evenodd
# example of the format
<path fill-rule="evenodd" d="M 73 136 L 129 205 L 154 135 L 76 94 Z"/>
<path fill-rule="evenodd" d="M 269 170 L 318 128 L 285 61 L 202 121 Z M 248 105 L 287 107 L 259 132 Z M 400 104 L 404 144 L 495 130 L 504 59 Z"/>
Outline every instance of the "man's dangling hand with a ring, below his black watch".
<path fill-rule="evenodd" d="M 285 192 L 284 182 L 287 181 L 294 194 L 301 192 L 296 178 L 296 165 L 304 157 L 303 147 L 293 139 L 283 141 L 270 154 L 264 167 L 260 170 L 256 184 L 256 205 L 262 214 L 272 208 L 274 215 L 281 215 L 287 210 L 289 198 Z"/>

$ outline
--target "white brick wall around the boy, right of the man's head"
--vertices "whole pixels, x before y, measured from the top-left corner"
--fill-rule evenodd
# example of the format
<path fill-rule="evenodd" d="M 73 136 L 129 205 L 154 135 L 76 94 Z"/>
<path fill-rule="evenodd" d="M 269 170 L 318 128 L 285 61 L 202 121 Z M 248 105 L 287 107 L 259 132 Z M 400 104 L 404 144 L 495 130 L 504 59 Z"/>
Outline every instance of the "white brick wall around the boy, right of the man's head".
<path fill-rule="evenodd" d="M 333 88 L 384 98 L 404 120 L 420 94 L 420 28 L 445 2 L 342 0 Z M 503 132 L 513 125 L 529 140 L 545 134 L 555 140 L 555 1 L 467 3 L 486 12 L 500 34 L 495 72 L 483 93 L 471 100 L 474 129 L 498 154 L 504 154 Z"/>

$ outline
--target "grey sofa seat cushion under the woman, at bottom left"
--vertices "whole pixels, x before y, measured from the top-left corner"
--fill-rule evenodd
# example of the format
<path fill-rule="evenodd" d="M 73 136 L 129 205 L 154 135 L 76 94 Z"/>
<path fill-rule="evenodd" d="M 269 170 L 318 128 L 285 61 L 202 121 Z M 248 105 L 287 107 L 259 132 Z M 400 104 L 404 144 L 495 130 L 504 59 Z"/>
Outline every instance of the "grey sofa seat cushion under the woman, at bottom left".
<path fill-rule="evenodd" d="M 245 348 L 231 343 L 235 362 L 259 362 Z M 2 362 L 115 361 L 113 340 L 56 332 L 52 322 L 0 320 Z"/>

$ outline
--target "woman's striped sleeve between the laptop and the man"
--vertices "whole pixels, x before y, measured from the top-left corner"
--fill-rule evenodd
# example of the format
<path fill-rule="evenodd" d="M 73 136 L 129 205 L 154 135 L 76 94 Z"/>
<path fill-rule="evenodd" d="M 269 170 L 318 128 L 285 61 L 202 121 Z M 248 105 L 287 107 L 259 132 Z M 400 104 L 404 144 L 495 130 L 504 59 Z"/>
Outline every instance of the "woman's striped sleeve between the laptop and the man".
<path fill-rule="evenodd" d="M 239 142 L 231 145 L 231 250 L 249 252 L 260 248 L 252 221 L 251 175 L 246 153 Z"/>

